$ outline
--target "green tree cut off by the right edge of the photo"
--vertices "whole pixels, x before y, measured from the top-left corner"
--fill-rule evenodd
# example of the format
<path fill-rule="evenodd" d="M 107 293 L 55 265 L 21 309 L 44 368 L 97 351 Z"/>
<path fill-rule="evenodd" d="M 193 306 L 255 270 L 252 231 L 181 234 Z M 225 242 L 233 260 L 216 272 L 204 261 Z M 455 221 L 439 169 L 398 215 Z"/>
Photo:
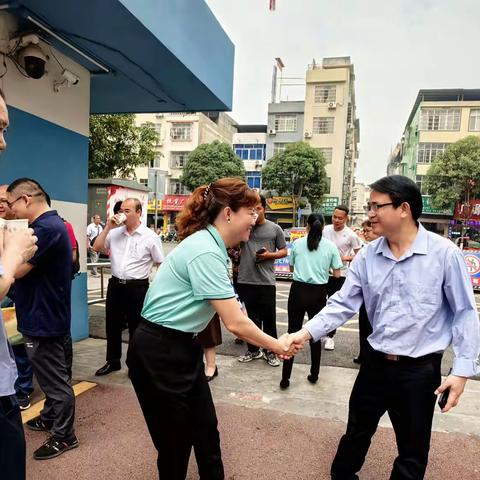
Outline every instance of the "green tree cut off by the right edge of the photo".
<path fill-rule="evenodd" d="M 480 197 L 480 138 L 470 135 L 448 146 L 435 157 L 425 179 L 435 208 L 449 208 L 465 201 L 467 191 Z"/>

